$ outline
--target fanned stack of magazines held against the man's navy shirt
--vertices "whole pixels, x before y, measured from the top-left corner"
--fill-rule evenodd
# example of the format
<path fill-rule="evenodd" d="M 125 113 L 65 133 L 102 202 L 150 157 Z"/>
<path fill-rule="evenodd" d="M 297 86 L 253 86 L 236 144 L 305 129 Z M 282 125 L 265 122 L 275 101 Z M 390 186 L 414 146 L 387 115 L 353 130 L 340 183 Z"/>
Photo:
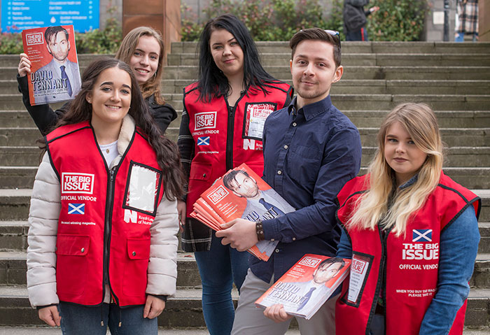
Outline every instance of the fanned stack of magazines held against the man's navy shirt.
<path fill-rule="evenodd" d="M 295 208 L 267 185 L 246 164 L 218 178 L 213 186 L 201 194 L 193 205 L 190 216 L 211 229 L 221 230 L 220 224 L 236 218 L 250 221 L 277 218 Z M 252 255 L 267 262 L 278 241 L 259 241 L 248 250 Z"/>

